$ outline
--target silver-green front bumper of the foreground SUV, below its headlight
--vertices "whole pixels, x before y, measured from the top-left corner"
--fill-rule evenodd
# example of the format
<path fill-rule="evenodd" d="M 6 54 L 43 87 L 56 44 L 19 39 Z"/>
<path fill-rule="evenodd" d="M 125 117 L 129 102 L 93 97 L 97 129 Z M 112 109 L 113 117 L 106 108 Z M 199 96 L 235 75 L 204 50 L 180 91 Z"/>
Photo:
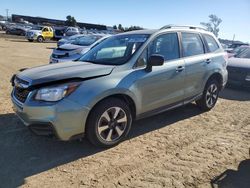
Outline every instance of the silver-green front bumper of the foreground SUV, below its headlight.
<path fill-rule="evenodd" d="M 84 135 L 89 109 L 67 98 L 55 102 L 39 102 L 27 98 L 20 103 L 12 93 L 13 110 L 21 121 L 38 135 L 56 135 L 60 140 L 70 140 Z"/>

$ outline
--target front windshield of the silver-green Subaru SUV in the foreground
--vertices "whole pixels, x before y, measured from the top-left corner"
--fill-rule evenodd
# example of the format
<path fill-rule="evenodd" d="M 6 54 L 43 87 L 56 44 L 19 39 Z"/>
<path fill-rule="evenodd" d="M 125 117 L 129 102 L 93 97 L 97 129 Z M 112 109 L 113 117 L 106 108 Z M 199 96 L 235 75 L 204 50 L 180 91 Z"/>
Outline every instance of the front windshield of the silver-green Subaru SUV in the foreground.
<path fill-rule="evenodd" d="M 126 63 L 148 38 L 149 35 L 144 34 L 113 36 L 92 48 L 79 61 L 121 65 Z"/>

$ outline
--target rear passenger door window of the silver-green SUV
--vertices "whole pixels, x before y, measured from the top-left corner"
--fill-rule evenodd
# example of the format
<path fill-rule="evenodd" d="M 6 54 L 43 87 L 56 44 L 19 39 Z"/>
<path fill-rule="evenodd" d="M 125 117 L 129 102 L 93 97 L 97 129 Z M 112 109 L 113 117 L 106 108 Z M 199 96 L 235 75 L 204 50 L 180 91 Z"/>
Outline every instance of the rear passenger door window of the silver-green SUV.
<path fill-rule="evenodd" d="M 182 48 L 184 57 L 204 54 L 200 35 L 196 33 L 182 33 Z"/>

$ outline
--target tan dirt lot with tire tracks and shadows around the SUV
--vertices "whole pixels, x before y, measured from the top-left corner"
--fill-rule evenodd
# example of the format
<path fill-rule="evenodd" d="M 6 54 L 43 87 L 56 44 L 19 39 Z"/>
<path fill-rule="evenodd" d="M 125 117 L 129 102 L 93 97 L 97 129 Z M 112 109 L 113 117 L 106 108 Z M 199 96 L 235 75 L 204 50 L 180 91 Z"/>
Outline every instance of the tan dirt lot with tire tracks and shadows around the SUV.
<path fill-rule="evenodd" d="M 225 89 L 207 113 L 190 104 L 137 121 L 108 150 L 31 134 L 12 111 L 9 80 L 47 64 L 55 46 L 0 38 L 0 187 L 250 187 L 247 91 Z"/>

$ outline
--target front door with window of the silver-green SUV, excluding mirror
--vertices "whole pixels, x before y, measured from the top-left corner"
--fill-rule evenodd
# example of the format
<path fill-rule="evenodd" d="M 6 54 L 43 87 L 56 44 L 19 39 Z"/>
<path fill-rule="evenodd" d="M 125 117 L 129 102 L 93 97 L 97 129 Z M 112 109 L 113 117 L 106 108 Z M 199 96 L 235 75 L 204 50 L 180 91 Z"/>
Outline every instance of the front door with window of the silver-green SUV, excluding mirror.
<path fill-rule="evenodd" d="M 142 54 L 164 56 L 164 65 L 137 71 L 136 88 L 141 98 L 139 113 L 157 110 L 182 103 L 185 85 L 185 64 L 180 59 L 177 33 L 166 33 L 156 37 Z M 148 53 L 146 53 L 148 51 Z M 147 58 L 148 59 L 148 58 Z M 139 58 L 138 62 L 141 62 Z"/>

